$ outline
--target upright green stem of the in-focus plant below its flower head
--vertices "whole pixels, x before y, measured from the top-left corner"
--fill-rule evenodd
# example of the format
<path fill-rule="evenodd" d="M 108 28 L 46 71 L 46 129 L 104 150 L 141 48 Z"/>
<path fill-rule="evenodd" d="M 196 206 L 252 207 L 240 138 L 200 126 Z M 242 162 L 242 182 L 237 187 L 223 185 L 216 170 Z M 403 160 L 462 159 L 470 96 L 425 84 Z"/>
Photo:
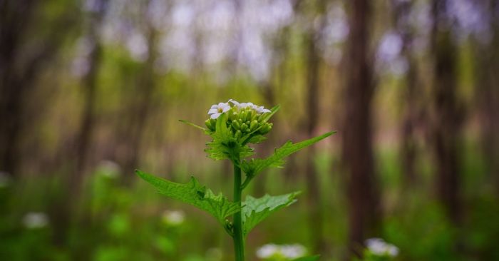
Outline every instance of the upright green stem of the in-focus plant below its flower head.
<path fill-rule="evenodd" d="M 241 205 L 241 168 L 234 164 L 234 202 Z M 234 214 L 234 252 L 235 261 L 245 260 L 245 240 L 242 238 L 242 218 L 241 211 Z"/>

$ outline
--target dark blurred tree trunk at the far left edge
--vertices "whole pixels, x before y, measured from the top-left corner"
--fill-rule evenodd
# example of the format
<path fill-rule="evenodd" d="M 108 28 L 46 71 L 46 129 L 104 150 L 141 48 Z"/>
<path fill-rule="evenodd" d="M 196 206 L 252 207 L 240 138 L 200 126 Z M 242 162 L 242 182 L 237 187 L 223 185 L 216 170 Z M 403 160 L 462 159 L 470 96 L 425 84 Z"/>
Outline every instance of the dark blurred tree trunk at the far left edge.
<path fill-rule="evenodd" d="M 0 171 L 14 176 L 21 158 L 24 101 L 41 62 L 36 58 L 24 68 L 18 57 L 35 7 L 32 0 L 0 1 Z"/>

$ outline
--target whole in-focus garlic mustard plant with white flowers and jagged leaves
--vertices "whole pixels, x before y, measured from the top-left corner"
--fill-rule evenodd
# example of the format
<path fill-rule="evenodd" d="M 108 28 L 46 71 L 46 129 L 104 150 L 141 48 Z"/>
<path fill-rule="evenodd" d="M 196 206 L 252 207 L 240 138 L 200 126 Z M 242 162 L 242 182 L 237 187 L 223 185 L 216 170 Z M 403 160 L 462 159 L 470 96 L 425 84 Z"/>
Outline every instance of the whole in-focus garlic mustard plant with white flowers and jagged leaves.
<path fill-rule="evenodd" d="M 234 166 L 232 200 L 227 199 L 222 193 L 215 195 L 212 190 L 200 185 L 193 177 L 188 183 L 182 184 L 136 170 L 137 175 L 152 184 L 159 193 L 194 205 L 213 215 L 232 237 L 236 261 L 245 260 L 245 237 L 252 228 L 275 211 L 296 202 L 296 197 L 299 195 L 299 192 L 277 196 L 264 195 L 262 198 L 247 195 L 243 201 L 243 190 L 265 168 L 282 167 L 283 159 L 288 155 L 334 133 L 331 131 L 299 143 L 288 141 L 267 158 L 253 157 L 254 150 L 249 144 L 261 143 L 266 139 L 265 135 L 272 130 L 272 123 L 269 123 L 269 120 L 278 110 L 279 106 L 269 110 L 253 103 L 239 103 L 231 99 L 226 103 L 211 106 L 207 113 L 209 118 L 205 121 L 206 128 L 182 121 L 210 135 L 211 141 L 207 143 L 205 149 L 210 158 L 232 162 Z M 298 260 L 312 261 L 318 258 L 318 256 L 300 257 Z"/>

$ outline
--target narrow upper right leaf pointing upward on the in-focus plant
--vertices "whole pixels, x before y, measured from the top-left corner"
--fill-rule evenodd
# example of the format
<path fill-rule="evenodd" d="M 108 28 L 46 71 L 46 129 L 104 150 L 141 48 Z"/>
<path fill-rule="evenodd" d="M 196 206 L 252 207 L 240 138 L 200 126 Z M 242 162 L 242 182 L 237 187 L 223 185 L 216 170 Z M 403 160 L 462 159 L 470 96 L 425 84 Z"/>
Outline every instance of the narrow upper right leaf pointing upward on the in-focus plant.
<path fill-rule="evenodd" d="M 244 171 L 248 177 L 252 178 L 265 168 L 282 167 L 282 165 L 284 164 L 284 160 L 282 160 L 283 158 L 286 158 L 287 156 L 297 152 L 298 150 L 301 150 L 302 148 L 317 143 L 319 140 L 327 138 L 334 133 L 336 133 L 336 131 L 324 133 L 323 135 L 310 138 L 308 140 L 303 140 L 299 143 L 292 143 L 291 141 L 288 141 L 287 143 L 284 143 L 281 148 L 277 148 L 274 151 L 274 154 L 269 158 L 257 158 L 249 161 L 243 160 L 241 163 L 242 171 Z"/>

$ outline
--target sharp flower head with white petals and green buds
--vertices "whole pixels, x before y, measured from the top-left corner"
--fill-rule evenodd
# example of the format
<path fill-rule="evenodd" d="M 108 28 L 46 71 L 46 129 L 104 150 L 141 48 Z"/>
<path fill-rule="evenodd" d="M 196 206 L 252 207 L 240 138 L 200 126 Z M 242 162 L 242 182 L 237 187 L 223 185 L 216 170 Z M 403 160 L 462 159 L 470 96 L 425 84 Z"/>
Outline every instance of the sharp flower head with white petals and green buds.
<path fill-rule="evenodd" d="M 205 121 L 210 131 L 215 131 L 217 118 L 227 113 L 227 128 L 235 138 L 239 139 L 249 133 L 256 135 L 267 134 L 272 129 L 272 123 L 267 123 L 266 113 L 271 113 L 264 106 L 253 103 L 239 103 L 230 99 L 227 103 L 213 105 L 208 111 L 210 118 Z"/>

